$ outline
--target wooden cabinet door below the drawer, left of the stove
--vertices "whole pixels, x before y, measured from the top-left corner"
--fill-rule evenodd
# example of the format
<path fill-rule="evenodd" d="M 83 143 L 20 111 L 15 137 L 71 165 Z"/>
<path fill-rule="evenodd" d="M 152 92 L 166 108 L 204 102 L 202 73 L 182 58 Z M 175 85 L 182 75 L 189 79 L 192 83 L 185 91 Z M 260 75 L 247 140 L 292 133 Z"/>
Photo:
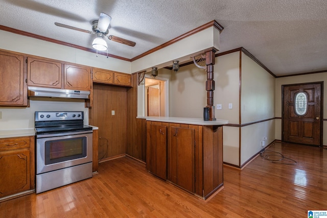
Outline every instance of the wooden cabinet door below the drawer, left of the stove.
<path fill-rule="evenodd" d="M 30 151 L 0 152 L 0 198 L 30 189 Z"/>

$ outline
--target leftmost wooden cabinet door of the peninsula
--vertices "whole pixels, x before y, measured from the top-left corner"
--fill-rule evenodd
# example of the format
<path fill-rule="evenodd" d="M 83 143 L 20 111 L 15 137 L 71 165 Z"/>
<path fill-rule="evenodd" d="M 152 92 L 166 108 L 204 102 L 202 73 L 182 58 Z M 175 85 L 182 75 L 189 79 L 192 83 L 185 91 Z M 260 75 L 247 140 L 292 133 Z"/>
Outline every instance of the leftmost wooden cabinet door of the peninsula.
<path fill-rule="evenodd" d="M 161 179 L 167 179 L 167 127 L 150 125 L 148 128 L 147 168 Z"/>

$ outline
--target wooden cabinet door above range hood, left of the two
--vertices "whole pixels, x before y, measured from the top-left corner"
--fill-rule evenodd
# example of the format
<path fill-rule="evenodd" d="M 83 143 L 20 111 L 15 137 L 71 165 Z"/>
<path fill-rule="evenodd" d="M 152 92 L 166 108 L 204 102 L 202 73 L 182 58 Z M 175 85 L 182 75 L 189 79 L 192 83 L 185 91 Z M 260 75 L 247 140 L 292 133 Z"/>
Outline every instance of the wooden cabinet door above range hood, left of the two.
<path fill-rule="evenodd" d="M 27 59 L 27 85 L 61 88 L 61 63 L 46 59 Z"/>

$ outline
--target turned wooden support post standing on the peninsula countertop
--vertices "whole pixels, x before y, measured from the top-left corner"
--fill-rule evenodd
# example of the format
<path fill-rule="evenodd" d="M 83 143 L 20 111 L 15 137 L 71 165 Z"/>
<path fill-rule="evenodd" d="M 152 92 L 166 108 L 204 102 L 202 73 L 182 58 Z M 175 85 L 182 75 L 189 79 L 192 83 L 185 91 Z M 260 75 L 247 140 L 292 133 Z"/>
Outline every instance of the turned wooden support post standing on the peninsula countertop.
<path fill-rule="evenodd" d="M 205 81 L 205 90 L 207 91 L 207 108 L 209 108 L 209 120 L 216 120 L 215 106 L 214 106 L 214 65 L 215 65 L 215 49 L 205 52 L 205 71 L 207 74 L 207 81 Z"/>

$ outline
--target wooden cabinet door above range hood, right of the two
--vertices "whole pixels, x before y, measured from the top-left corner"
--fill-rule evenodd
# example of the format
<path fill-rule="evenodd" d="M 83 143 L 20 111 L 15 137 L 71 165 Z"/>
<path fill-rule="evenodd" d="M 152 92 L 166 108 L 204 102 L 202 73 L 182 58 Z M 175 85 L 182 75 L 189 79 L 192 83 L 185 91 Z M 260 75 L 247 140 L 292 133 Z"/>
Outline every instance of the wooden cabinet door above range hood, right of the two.
<path fill-rule="evenodd" d="M 64 64 L 64 88 L 91 90 L 91 68 Z"/>

